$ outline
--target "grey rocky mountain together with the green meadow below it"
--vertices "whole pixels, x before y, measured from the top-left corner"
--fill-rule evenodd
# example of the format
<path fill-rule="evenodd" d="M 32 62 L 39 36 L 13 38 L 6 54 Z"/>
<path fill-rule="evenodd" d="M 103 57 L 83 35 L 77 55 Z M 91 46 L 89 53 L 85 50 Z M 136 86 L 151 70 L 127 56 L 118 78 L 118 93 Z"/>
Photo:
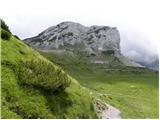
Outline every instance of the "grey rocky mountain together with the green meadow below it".
<path fill-rule="evenodd" d="M 158 72 L 121 54 L 117 28 L 62 22 L 24 41 L 122 118 L 158 118 Z"/>

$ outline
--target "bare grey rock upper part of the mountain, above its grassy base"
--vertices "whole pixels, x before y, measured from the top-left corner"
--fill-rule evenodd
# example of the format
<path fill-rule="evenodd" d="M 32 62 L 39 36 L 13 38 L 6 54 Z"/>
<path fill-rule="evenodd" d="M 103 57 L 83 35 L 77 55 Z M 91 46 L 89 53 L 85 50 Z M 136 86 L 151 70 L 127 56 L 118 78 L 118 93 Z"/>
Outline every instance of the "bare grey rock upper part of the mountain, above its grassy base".
<path fill-rule="evenodd" d="M 120 36 L 117 28 L 85 27 L 75 22 L 62 22 L 25 41 L 39 49 L 65 49 L 66 44 L 74 46 L 81 43 L 92 52 L 108 49 L 120 51 Z"/>

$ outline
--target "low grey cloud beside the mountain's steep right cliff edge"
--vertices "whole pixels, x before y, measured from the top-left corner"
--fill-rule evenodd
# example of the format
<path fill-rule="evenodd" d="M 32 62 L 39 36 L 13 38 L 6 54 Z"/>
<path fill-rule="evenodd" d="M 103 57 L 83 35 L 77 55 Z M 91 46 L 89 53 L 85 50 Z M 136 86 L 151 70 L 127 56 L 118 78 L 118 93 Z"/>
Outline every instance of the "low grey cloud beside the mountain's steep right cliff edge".
<path fill-rule="evenodd" d="M 121 52 L 128 58 L 145 63 L 159 59 L 158 48 L 146 36 L 136 31 L 121 31 Z"/>

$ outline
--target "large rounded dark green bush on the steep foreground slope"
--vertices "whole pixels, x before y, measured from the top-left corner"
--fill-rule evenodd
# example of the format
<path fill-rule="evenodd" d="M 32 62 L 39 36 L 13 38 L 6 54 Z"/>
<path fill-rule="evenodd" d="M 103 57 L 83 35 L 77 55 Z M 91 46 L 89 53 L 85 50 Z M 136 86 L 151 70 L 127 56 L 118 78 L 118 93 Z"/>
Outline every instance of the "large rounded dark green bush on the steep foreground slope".
<path fill-rule="evenodd" d="M 70 85 L 70 79 L 60 68 L 42 60 L 21 61 L 18 64 L 18 79 L 21 84 L 30 85 L 50 92 L 62 91 Z"/>

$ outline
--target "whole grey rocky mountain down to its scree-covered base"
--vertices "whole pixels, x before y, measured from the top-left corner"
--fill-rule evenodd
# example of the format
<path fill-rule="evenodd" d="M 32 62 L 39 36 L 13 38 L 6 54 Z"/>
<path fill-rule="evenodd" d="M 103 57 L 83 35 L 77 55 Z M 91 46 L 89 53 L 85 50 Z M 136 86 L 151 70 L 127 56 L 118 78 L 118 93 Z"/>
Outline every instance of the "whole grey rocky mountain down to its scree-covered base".
<path fill-rule="evenodd" d="M 44 52 L 76 51 L 95 64 L 111 65 L 116 62 L 116 65 L 142 67 L 121 54 L 120 34 L 116 27 L 86 27 L 79 23 L 62 22 L 24 41 Z"/>

